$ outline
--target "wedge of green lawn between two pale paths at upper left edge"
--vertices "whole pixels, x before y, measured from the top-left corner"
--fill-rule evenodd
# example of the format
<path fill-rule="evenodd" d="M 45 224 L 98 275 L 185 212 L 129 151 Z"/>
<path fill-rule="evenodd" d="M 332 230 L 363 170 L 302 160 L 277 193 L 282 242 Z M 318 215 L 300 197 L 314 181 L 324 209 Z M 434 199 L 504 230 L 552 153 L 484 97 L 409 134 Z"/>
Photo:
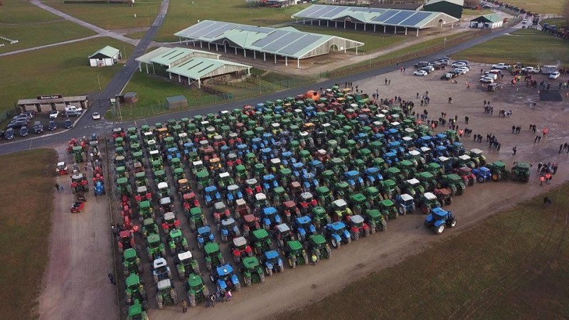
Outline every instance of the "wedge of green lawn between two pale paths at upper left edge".
<path fill-rule="evenodd" d="M 70 21 L 54 21 L 50 23 L 26 23 L 14 26 L 2 26 L 1 35 L 18 40 L 18 43 L 0 47 L 0 53 L 44 46 L 87 36 L 96 33 Z M 2 43 L 2 41 L 0 41 Z"/>

